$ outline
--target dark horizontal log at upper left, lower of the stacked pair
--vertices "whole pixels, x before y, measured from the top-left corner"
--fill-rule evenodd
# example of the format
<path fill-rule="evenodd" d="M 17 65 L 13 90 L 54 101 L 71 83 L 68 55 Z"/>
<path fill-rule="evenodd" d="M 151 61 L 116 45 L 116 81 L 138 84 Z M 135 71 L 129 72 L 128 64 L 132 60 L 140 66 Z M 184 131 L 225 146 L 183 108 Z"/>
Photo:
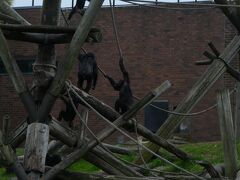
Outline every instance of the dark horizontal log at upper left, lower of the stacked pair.
<path fill-rule="evenodd" d="M 85 42 L 100 43 L 102 41 L 102 33 L 100 31 L 90 30 Z M 38 44 L 65 44 L 70 43 L 73 34 L 43 34 L 43 33 L 24 33 L 17 31 L 3 30 L 4 36 L 8 40 L 17 40 L 23 42 L 31 42 Z"/>

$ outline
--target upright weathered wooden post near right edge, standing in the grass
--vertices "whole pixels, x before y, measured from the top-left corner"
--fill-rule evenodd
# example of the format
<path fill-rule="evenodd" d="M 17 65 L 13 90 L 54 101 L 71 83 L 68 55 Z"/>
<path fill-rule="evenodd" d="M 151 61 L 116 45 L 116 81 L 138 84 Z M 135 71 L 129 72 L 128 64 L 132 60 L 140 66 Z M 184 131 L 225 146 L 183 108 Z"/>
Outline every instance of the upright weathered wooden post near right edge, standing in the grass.
<path fill-rule="evenodd" d="M 226 175 L 230 179 L 234 179 L 237 173 L 237 150 L 232 120 L 230 95 L 227 89 L 217 93 L 217 104 L 223 142 Z"/>

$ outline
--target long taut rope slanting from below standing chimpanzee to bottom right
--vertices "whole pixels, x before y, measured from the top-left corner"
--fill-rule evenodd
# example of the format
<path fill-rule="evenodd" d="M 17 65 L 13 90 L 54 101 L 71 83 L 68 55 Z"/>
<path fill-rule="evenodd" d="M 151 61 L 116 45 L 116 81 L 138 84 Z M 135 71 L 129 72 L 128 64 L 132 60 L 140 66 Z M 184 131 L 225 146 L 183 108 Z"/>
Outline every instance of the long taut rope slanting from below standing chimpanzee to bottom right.
<path fill-rule="evenodd" d="M 117 131 L 119 131 L 120 133 L 122 133 L 123 135 L 125 135 L 126 137 L 128 137 L 129 139 L 131 139 L 133 142 L 135 142 L 136 144 L 139 144 L 138 141 L 136 141 L 132 136 L 128 135 L 127 133 L 125 133 L 123 130 L 121 130 L 119 127 L 117 127 L 115 124 L 113 124 L 112 122 L 110 122 L 108 119 L 106 119 L 103 115 L 101 115 L 101 113 L 99 113 L 96 109 L 94 109 L 88 102 L 86 102 L 81 96 L 79 96 L 79 94 L 74 90 L 74 88 L 78 89 L 75 86 L 72 86 L 72 84 L 70 84 L 69 82 L 66 82 L 67 87 L 69 87 L 71 89 L 71 91 L 84 103 L 86 104 L 89 108 L 91 108 L 99 117 L 101 117 L 105 122 L 107 122 L 110 126 L 112 126 L 113 128 L 115 128 Z M 78 89 L 79 90 L 79 89 Z M 89 129 L 89 128 L 88 128 Z M 99 141 L 99 140 L 98 140 Z M 164 161 L 165 163 L 168 163 L 172 166 L 174 166 L 175 168 L 179 169 L 180 171 L 183 171 L 191 176 L 194 176 L 197 179 L 201 179 L 201 180 L 206 180 L 203 177 L 200 177 L 196 174 L 193 174 L 189 171 L 187 171 L 186 169 L 183 169 L 181 167 L 179 167 L 178 165 L 170 162 L 169 160 L 165 159 L 164 157 L 158 155 L 157 153 L 155 153 L 154 151 L 152 151 L 151 149 L 149 149 L 148 147 L 146 147 L 143 144 L 139 144 L 139 146 L 141 146 L 143 149 L 145 149 L 146 151 L 148 151 L 149 153 L 151 153 L 152 155 L 158 157 L 159 159 L 161 159 L 162 161 Z"/>

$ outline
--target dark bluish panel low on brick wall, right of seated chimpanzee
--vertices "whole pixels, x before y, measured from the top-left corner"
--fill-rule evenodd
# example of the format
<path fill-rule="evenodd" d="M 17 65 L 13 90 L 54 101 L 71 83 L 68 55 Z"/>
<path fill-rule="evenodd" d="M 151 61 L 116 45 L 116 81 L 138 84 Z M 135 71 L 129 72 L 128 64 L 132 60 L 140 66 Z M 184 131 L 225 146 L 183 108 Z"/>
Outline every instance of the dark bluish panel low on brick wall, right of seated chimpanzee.
<path fill-rule="evenodd" d="M 152 102 L 152 104 L 159 108 L 168 110 L 167 100 L 157 100 Z M 166 121 L 167 118 L 168 118 L 167 112 L 156 109 L 151 105 L 148 105 L 144 108 L 144 125 L 146 128 L 148 128 L 154 133 Z"/>

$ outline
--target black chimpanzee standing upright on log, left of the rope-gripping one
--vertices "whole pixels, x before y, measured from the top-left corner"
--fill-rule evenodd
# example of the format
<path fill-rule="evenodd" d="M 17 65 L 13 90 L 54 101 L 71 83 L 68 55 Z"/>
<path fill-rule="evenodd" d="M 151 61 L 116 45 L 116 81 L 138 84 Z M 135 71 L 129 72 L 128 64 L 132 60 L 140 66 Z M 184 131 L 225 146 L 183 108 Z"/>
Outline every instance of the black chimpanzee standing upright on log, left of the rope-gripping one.
<path fill-rule="evenodd" d="M 98 67 L 95 55 L 91 52 L 86 54 L 80 54 L 79 70 L 78 70 L 78 87 L 85 92 L 95 89 L 97 78 L 98 78 Z M 86 87 L 83 88 L 84 81 L 87 81 Z"/>

